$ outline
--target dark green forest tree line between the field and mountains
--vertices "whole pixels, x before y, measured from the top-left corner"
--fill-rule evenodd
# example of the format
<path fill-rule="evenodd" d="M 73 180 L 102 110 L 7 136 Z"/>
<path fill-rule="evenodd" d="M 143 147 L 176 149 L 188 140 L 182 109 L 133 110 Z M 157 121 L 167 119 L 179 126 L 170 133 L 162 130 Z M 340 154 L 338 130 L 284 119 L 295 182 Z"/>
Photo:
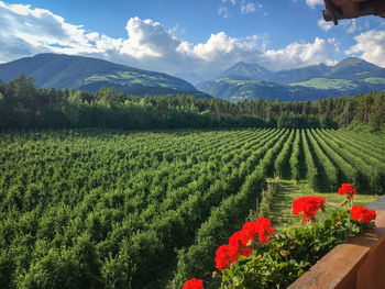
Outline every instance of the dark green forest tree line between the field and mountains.
<path fill-rule="evenodd" d="M 113 88 L 85 90 L 38 88 L 32 77 L 0 81 L 0 130 L 111 127 L 323 127 L 352 122 L 372 131 L 385 122 L 385 92 L 314 102 L 197 99 L 191 96 L 127 96 Z"/>

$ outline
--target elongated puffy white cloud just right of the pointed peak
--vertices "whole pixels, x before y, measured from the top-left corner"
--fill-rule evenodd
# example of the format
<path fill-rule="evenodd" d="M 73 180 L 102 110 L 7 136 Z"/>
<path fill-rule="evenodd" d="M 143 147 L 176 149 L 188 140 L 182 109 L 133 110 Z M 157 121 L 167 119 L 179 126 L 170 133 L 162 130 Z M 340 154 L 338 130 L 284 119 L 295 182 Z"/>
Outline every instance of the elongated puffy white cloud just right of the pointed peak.
<path fill-rule="evenodd" d="M 330 59 L 339 53 L 334 38 L 316 37 L 314 43 L 292 43 L 283 49 L 266 51 L 262 63 L 266 67 L 278 70 L 324 63 L 333 64 Z"/>

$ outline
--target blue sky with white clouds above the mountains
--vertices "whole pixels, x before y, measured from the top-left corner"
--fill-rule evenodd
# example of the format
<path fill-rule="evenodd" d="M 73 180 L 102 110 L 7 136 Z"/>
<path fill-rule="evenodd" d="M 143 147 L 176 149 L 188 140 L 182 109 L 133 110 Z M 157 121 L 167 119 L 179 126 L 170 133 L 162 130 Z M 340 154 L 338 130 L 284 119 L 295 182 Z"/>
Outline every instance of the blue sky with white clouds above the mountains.
<path fill-rule="evenodd" d="M 361 57 L 385 67 L 385 19 L 324 22 L 322 0 L 0 0 L 0 63 L 40 53 L 204 80 Z"/>

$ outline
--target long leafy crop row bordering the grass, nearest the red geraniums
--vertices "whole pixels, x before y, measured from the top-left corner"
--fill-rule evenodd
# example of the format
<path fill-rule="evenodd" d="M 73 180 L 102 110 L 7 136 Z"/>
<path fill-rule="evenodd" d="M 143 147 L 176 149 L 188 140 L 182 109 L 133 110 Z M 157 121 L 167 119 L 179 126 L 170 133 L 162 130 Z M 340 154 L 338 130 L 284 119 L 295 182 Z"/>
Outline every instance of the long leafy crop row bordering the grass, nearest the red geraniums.
<path fill-rule="evenodd" d="M 213 268 L 216 248 L 223 243 L 230 232 L 239 230 L 244 216 L 254 205 L 255 198 L 261 198 L 265 173 L 274 165 L 274 158 L 287 140 L 288 131 L 258 148 L 262 157 L 258 165 L 248 176 L 239 193 L 224 199 L 212 210 L 209 219 L 197 233 L 197 243 L 178 256 L 175 280 L 180 285 L 188 276 L 202 276 Z"/>

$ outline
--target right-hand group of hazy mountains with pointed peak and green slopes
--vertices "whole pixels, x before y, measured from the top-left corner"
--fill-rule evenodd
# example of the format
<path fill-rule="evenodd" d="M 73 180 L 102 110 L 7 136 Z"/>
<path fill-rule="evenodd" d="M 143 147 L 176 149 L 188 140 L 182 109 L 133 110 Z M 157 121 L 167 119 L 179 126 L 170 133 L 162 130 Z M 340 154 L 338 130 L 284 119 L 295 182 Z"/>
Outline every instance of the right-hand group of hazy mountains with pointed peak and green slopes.
<path fill-rule="evenodd" d="M 229 101 L 279 99 L 283 101 L 348 97 L 385 90 L 385 68 L 349 57 L 334 66 L 324 64 L 271 71 L 258 64 L 240 62 L 200 82 L 199 90 Z"/>

